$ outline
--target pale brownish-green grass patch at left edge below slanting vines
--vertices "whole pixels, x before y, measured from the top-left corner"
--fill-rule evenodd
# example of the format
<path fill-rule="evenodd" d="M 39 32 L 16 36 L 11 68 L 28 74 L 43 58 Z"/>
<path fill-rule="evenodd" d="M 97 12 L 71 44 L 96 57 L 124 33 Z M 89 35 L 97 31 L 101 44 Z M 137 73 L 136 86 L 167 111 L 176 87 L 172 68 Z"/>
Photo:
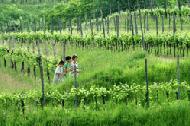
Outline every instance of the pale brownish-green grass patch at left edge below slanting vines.
<path fill-rule="evenodd" d="M 0 65 L 0 91 L 1 92 L 21 92 L 40 88 L 40 80 L 23 75 L 19 70 L 4 68 Z"/>

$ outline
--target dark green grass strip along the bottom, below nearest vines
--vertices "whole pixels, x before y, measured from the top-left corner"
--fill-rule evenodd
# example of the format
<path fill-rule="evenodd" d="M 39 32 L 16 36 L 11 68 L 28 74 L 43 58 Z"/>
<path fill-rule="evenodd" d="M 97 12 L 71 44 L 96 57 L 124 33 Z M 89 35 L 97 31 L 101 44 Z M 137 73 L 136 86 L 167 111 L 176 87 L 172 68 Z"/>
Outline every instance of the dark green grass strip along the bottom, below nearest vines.
<path fill-rule="evenodd" d="M 0 110 L 1 125 L 19 126 L 188 126 L 190 107 L 176 101 L 142 108 L 134 105 L 107 105 L 102 110 L 46 107 L 23 115 L 19 111 Z"/>

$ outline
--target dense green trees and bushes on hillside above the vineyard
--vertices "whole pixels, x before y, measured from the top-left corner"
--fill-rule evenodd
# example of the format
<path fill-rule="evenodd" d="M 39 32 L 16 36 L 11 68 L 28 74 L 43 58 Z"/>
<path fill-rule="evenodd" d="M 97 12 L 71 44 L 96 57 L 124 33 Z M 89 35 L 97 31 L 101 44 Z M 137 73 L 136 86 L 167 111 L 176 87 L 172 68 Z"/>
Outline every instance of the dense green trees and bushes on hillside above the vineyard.
<path fill-rule="evenodd" d="M 41 2 L 39 1 L 39 3 Z M 165 0 L 155 2 L 150 0 L 69 0 L 67 2 L 55 2 L 54 4 L 50 1 L 38 5 L 7 3 L 0 6 L 0 24 L 3 26 L 1 31 L 23 31 L 28 30 L 28 27 L 34 30 L 34 25 L 40 27 L 39 25 L 43 22 L 42 18 L 45 17 L 43 20 L 46 21 L 46 28 L 50 29 L 51 24 L 58 27 L 59 18 L 61 18 L 62 24 L 68 24 L 70 19 L 76 23 L 78 18 L 83 22 L 90 18 L 100 18 L 101 10 L 103 11 L 103 17 L 120 10 L 125 12 L 131 9 L 134 11 L 139 7 L 142 11 L 144 11 L 143 9 L 146 11 L 149 9 L 148 11 L 153 14 L 159 11 L 170 13 L 173 10 L 173 13 L 181 13 L 176 5 L 176 0 L 167 0 L 167 8 L 165 8 Z M 185 0 L 180 1 L 180 5 L 182 14 L 189 13 L 189 9 L 183 9 L 183 6 L 187 5 Z M 152 12 L 152 10 L 158 10 L 158 12 Z"/>

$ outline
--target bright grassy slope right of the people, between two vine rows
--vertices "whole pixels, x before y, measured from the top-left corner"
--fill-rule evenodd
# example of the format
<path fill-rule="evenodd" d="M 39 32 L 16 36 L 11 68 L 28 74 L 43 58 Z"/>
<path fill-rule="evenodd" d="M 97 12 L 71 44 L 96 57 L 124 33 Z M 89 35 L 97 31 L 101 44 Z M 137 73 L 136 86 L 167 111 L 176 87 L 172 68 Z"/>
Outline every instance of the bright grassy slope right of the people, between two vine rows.
<path fill-rule="evenodd" d="M 77 80 L 82 87 L 90 85 L 109 87 L 120 82 L 145 84 L 145 57 L 148 60 L 148 79 L 151 84 L 177 79 L 177 58 L 174 57 L 156 57 L 154 54 L 145 54 L 141 49 L 127 52 L 111 52 L 103 49 L 67 50 L 68 55 L 73 53 L 79 56 L 81 73 Z M 190 82 L 189 66 L 188 58 L 180 58 L 181 81 Z M 69 86 L 69 82 L 65 80 L 63 85 Z"/>

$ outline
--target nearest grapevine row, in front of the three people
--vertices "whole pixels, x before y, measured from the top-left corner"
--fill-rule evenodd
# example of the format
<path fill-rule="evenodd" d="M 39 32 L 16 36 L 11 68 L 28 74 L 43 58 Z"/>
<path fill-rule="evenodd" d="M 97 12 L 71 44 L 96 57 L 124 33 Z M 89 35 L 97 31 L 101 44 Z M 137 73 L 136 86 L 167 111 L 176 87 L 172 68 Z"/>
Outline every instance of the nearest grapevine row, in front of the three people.
<path fill-rule="evenodd" d="M 177 81 L 172 80 L 167 83 L 155 83 L 149 86 L 150 101 L 156 103 L 167 99 L 173 101 L 178 99 L 178 89 L 181 90 L 180 99 L 190 100 L 190 86 L 186 82 L 178 85 Z M 85 88 L 71 88 L 69 92 L 59 91 L 58 89 L 48 89 L 45 93 L 46 105 L 62 105 L 66 103 L 72 104 L 74 98 L 77 97 L 78 104 L 105 104 L 108 101 L 114 103 L 130 103 L 135 102 L 137 105 L 143 105 L 145 102 L 146 87 L 142 85 L 114 85 L 110 89 L 104 87 L 91 86 L 89 89 Z M 177 97 L 177 98 L 176 98 Z M 20 101 L 28 105 L 40 105 L 41 95 L 40 91 L 27 91 L 15 94 L 1 93 L 0 102 L 3 106 L 12 106 L 18 104 Z"/>

